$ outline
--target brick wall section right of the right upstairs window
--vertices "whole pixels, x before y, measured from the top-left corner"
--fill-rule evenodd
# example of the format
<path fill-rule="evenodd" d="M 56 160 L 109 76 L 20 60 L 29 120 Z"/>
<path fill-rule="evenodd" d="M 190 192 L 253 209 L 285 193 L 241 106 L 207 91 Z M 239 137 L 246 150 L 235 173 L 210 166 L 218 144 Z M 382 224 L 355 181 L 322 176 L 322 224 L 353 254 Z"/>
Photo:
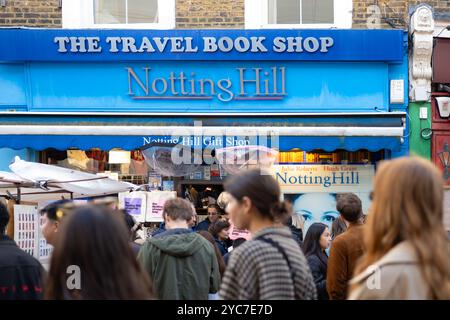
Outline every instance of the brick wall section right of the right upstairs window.
<path fill-rule="evenodd" d="M 373 21 L 367 9 L 370 5 L 378 5 L 381 11 L 381 21 L 377 29 L 407 29 L 409 7 L 421 3 L 429 4 L 435 12 L 450 13 L 450 0 L 353 0 L 353 28 L 366 29 L 367 22 Z"/>

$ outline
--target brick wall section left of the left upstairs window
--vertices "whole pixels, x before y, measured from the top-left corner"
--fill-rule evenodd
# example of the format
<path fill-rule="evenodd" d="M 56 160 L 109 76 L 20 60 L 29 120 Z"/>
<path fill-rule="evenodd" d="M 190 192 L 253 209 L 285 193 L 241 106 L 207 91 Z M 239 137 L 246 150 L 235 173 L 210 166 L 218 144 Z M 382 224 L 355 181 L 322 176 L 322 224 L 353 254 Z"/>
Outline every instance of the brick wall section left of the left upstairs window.
<path fill-rule="evenodd" d="M 0 26 L 61 28 L 59 0 L 6 0 Z"/>

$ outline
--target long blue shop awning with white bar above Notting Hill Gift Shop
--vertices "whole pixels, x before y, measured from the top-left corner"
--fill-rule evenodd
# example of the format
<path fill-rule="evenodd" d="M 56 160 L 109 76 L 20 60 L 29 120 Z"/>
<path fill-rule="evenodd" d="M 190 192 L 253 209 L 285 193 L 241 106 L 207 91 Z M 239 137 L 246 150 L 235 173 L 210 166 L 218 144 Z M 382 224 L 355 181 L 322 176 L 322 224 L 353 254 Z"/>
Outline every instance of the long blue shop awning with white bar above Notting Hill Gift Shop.
<path fill-rule="evenodd" d="M 235 117 L 16 114 L 0 122 L 0 148 L 133 150 L 150 142 L 173 142 L 175 138 L 184 139 L 183 143 L 192 147 L 196 141 L 201 147 L 224 147 L 229 146 L 225 141 L 263 143 L 264 137 L 269 141 L 278 137 L 280 151 L 398 151 L 405 135 L 405 117 L 401 112 Z M 216 137 L 221 137 L 221 145 L 211 144 L 217 143 Z"/>

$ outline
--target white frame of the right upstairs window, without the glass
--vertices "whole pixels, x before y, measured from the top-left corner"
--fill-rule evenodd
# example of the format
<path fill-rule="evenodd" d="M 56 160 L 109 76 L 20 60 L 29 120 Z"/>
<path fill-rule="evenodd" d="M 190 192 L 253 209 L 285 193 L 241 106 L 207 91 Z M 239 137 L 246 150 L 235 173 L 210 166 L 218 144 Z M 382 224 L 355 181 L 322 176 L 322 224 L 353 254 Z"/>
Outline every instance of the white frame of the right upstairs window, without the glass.
<path fill-rule="evenodd" d="M 333 0 L 334 23 L 269 23 L 269 0 L 245 0 L 245 29 L 351 29 L 353 0 Z"/>

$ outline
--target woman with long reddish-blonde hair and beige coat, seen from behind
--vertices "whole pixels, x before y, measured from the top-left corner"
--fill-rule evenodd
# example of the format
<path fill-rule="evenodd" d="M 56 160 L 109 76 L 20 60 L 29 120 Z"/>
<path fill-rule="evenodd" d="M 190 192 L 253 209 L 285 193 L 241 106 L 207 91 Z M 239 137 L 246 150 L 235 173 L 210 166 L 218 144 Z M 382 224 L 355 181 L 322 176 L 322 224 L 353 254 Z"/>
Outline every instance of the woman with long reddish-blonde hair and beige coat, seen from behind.
<path fill-rule="evenodd" d="M 420 158 L 382 163 L 366 225 L 366 252 L 349 299 L 450 299 L 443 179 Z"/>

